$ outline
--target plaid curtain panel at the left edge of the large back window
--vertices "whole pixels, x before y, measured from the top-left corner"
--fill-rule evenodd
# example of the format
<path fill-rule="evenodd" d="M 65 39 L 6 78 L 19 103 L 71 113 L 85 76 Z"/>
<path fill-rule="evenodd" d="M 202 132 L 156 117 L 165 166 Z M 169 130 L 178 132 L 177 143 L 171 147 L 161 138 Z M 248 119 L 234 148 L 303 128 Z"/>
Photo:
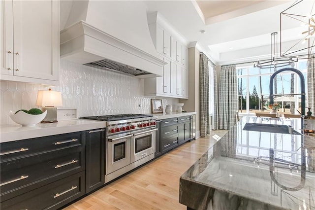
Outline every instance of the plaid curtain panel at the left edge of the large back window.
<path fill-rule="evenodd" d="M 219 129 L 229 130 L 236 123 L 237 78 L 235 65 L 221 67 L 219 89 Z"/>

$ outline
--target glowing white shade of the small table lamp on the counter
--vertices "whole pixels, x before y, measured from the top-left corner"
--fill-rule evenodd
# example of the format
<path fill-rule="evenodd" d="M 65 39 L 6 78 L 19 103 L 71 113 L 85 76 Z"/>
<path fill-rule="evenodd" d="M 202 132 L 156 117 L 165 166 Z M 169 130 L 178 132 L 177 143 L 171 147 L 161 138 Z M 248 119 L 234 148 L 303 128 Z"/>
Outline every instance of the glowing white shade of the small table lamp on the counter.
<path fill-rule="evenodd" d="M 59 91 L 39 90 L 36 105 L 39 106 L 62 106 L 63 100 Z"/>

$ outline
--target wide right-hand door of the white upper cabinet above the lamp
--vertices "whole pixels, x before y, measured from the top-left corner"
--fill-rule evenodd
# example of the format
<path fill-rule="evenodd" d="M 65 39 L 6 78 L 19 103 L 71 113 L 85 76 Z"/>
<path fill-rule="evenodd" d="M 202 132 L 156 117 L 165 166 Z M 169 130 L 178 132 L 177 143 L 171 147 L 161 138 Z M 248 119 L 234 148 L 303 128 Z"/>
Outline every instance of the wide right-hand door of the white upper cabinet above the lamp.
<path fill-rule="evenodd" d="M 57 0 L 13 1 L 13 74 L 58 80 Z"/>

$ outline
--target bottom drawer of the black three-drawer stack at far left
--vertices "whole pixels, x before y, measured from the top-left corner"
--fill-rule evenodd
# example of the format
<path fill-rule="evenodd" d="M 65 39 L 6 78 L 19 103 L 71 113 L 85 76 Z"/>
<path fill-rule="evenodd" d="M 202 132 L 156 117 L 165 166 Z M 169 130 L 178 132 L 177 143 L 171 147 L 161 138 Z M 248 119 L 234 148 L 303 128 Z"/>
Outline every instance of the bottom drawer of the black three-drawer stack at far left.
<path fill-rule="evenodd" d="M 58 209 L 85 194 L 85 175 L 80 172 L 1 202 L 1 210 Z"/>

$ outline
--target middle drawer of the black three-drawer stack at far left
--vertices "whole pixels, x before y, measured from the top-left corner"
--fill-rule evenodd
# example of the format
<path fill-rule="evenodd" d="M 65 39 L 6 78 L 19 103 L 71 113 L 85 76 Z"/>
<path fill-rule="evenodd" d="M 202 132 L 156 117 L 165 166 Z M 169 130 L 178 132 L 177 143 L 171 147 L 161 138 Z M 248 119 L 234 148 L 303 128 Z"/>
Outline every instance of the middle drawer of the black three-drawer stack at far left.
<path fill-rule="evenodd" d="M 79 146 L 1 162 L 1 200 L 9 194 L 32 190 L 32 183 L 63 173 L 75 174 L 85 169 L 85 150 Z M 4 196 L 4 194 L 7 194 Z"/>

